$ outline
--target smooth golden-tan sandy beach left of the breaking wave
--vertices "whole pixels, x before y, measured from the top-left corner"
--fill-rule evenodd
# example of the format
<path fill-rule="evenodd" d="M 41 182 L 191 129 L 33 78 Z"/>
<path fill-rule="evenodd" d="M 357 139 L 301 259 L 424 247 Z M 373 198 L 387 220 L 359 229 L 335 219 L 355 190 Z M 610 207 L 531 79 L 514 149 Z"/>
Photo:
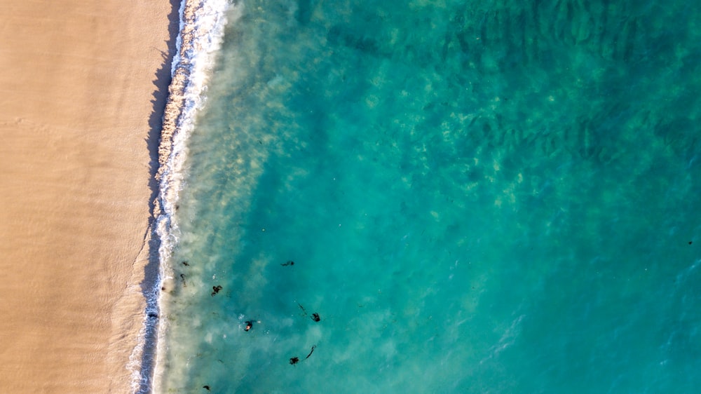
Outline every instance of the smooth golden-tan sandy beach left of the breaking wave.
<path fill-rule="evenodd" d="M 0 0 L 1 393 L 131 390 L 177 3 Z"/>

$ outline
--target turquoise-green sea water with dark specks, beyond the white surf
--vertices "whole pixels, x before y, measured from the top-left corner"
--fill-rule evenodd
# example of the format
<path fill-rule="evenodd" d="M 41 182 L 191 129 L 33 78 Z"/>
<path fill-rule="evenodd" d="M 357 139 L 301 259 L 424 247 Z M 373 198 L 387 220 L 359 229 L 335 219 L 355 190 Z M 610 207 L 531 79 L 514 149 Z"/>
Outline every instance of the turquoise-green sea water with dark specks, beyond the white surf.
<path fill-rule="evenodd" d="M 701 6 L 526 3 L 240 4 L 163 392 L 701 386 Z"/>

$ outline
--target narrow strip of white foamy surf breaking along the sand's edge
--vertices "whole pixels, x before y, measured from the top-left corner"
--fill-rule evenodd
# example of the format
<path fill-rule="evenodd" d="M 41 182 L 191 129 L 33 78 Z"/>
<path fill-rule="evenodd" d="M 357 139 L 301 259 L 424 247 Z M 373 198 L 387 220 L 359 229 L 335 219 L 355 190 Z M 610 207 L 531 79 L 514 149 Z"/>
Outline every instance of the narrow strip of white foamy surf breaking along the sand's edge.
<path fill-rule="evenodd" d="M 163 117 L 157 175 L 160 190 L 152 229 L 152 234 L 160 241 L 159 278 L 154 280 L 153 289 L 147 293 L 139 344 L 132 351 L 128 365 L 132 371 L 134 393 L 158 393 L 161 386 L 161 365 L 166 350 L 163 339 L 168 330 L 161 285 L 172 279 L 170 257 L 178 241 L 175 207 L 179 191 L 184 186 L 186 142 L 193 130 L 196 114 L 205 103 L 207 79 L 224 38 L 227 17 L 236 18 L 241 8 L 241 5 L 233 4 L 230 0 L 183 0 L 180 5 L 180 32 L 176 39 L 176 53 L 171 67 L 172 83 Z M 160 318 L 156 318 L 158 315 Z M 155 348 L 153 344 L 148 344 L 154 337 L 157 338 Z M 151 360 L 154 361 L 145 365 L 144 353 L 149 351 L 153 353 Z"/>

